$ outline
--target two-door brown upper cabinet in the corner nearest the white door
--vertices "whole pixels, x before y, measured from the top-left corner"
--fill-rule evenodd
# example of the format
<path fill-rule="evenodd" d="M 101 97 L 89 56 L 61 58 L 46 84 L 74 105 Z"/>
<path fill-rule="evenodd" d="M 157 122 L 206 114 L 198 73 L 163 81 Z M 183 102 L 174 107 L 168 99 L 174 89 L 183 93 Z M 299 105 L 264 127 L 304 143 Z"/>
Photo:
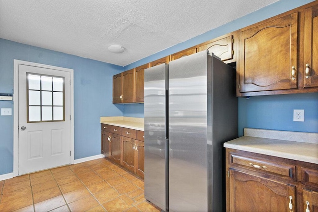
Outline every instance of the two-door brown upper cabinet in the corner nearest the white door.
<path fill-rule="evenodd" d="M 132 103 L 135 98 L 134 69 L 113 76 L 113 104 Z"/>

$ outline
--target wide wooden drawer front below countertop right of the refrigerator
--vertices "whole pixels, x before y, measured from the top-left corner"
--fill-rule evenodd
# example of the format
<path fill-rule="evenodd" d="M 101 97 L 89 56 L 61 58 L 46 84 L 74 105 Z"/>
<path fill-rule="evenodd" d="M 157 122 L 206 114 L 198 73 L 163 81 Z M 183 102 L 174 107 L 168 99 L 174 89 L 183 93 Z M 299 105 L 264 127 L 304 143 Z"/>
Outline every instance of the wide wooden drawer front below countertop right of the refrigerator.
<path fill-rule="evenodd" d="M 270 161 L 265 159 L 255 159 L 245 156 L 231 154 L 231 163 L 249 169 L 255 169 L 271 175 L 278 175 L 291 178 L 296 181 L 296 166 L 280 163 L 277 161 Z"/>

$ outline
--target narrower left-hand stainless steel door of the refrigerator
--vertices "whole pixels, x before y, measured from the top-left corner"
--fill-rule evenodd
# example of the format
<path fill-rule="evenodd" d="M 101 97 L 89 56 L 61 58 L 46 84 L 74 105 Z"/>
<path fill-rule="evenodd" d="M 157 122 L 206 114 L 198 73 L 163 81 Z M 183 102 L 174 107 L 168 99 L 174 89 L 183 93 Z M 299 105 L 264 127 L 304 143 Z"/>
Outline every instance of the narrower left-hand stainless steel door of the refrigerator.
<path fill-rule="evenodd" d="M 166 211 L 167 64 L 145 69 L 145 198 Z"/>

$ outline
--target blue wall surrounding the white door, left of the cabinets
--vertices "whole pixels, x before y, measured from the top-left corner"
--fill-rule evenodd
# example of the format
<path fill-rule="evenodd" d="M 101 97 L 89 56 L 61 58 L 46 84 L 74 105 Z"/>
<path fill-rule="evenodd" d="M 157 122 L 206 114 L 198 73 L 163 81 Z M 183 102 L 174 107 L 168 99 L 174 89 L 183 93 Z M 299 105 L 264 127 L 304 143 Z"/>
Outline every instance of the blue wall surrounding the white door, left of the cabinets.
<path fill-rule="evenodd" d="M 100 154 L 100 116 L 122 116 L 112 104 L 112 76 L 123 67 L 0 39 L 0 93 L 13 93 L 13 59 L 74 69 L 74 158 Z M 0 101 L 12 108 L 12 101 Z M 13 171 L 13 115 L 0 116 L 0 175 Z"/>

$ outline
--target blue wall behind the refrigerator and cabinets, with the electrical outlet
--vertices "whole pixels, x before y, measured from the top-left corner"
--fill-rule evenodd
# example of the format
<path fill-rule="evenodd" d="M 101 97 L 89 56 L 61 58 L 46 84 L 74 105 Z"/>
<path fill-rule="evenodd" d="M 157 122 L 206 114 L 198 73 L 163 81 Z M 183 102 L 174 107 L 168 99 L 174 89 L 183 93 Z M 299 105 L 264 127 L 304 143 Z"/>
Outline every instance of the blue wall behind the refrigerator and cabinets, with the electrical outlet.
<path fill-rule="evenodd" d="M 193 47 L 312 1 L 280 0 L 188 41 L 129 64 L 124 69 L 129 70 Z M 305 109 L 305 122 L 293 121 L 293 109 Z M 124 106 L 124 115 L 143 117 L 143 112 L 139 111 L 143 111 L 143 105 Z M 239 98 L 239 136 L 243 135 L 244 127 L 318 133 L 318 93 Z"/>

